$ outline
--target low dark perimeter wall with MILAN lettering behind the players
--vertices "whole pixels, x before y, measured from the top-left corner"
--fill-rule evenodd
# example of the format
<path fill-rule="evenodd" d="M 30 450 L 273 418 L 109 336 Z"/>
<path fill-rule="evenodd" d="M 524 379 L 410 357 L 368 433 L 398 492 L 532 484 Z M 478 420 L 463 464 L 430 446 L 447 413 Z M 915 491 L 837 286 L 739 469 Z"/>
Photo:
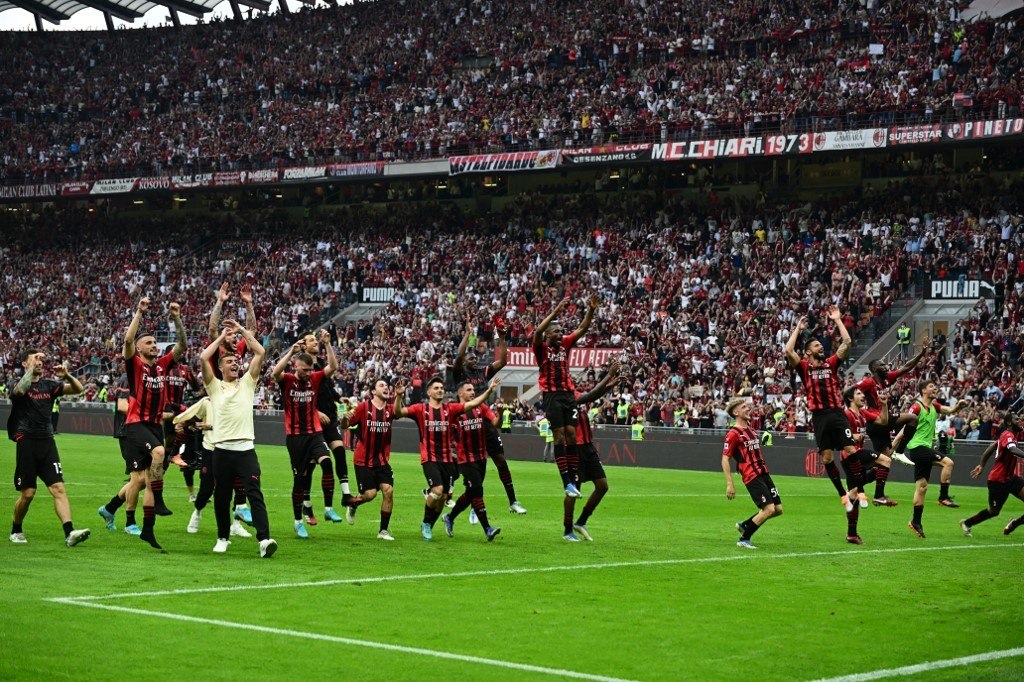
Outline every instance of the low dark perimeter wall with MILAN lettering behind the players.
<path fill-rule="evenodd" d="M 0 404 L 0 425 L 6 426 L 10 404 Z M 260 444 L 284 445 L 285 428 L 280 416 L 255 418 L 256 441 Z M 67 406 L 60 411 L 58 430 L 62 433 L 110 435 L 114 430 L 114 417 L 109 410 Z M 601 460 L 608 465 L 650 467 L 660 469 L 688 469 L 693 471 L 721 471 L 722 439 L 719 436 L 693 435 L 669 430 L 654 430 L 641 442 L 630 440 L 625 431 L 602 429 L 594 431 L 595 445 Z M 509 459 L 540 461 L 544 441 L 536 430 L 516 427 L 502 436 Z M 418 434 L 409 420 L 395 423 L 392 450 L 415 453 L 419 450 Z M 984 444 L 958 442 L 953 460 L 953 483 L 956 485 L 984 485 L 985 481 L 973 480 L 970 470 L 979 461 Z M 806 434 L 787 439 L 776 436 L 774 444 L 766 449 L 765 457 L 772 473 L 790 476 L 821 477 L 823 471 L 814 450 L 814 441 Z M 1024 468 L 1022 466 L 1021 468 Z M 911 470 L 897 464 L 890 480 L 906 482 Z M 938 471 L 932 476 L 938 482 Z M 737 481 L 738 482 L 738 481 Z"/>

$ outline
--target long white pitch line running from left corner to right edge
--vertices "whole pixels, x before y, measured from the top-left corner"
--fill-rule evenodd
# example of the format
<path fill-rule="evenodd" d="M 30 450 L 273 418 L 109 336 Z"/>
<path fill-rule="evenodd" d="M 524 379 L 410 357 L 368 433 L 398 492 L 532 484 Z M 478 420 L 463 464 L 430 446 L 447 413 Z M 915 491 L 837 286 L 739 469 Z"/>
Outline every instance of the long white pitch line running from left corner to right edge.
<path fill-rule="evenodd" d="M 153 592 L 121 592 L 116 594 L 92 595 L 82 597 L 50 597 L 44 601 L 68 603 L 74 601 L 98 601 L 103 599 L 128 599 L 135 597 L 165 597 L 183 594 L 206 594 L 211 592 L 241 592 L 246 590 L 281 590 L 289 588 L 327 587 L 331 585 L 353 585 L 365 583 L 393 583 L 398 581 L 422 581 L 437 578 L 476 578 L 482 576 L 517 576 L 522 573 L 546 573 L 567 570 L 594 570 L 601 568 L 635 568 L 643 566 L 671 566 L 688 563 L 719 563 L 725 561 L 749 561 L 764 559 L 801 559 L 821 556 L 853 556 L 858 554 L 902 554 L 905 552 L 942 552 L 981 549 L 1009 549 L 1024 547 L 1024 543 L 1008 545 L 950 545 L 942 547 L 900 547 L 892 549 L 872 550 L 837 550 L 830 552 L 791 552 L 787 554 L 730 554 L 728 556 L 709 556 L 692 559 L 659 559 L 650 561 L 613 561 L 608 563 L 580 563 L 561 566 L 534 566 L 525 568 L 496 568 L 493 570 L 466 570 L 461 572 L 412 573 L 402 576 L 373 576 L 369 578 L 341 578 L 327 581 L 310 581 L 306 583 L 270 583 L 267 585 L 230 585 L 224 587 L 183 588 L 179 590 L 155 590 Z"/>

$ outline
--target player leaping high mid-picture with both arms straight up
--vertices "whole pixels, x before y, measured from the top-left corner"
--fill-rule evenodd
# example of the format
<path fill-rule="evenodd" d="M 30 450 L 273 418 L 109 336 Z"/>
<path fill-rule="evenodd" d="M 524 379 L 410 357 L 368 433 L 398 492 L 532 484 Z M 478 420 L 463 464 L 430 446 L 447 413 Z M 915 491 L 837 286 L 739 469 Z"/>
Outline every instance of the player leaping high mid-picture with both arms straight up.
<path fill-rule="evenodd" d="M 561 327 L 555 321 L 568 304 L 567 298 L 562 299 L 534 332 L 532 347 L 540 369 L 538 383 L 544 399 L 544 415 L 551 423 L 555 439 L 555 463 L 562 477 L 562 486 L 565 495 L 571 498 L 582 498 L 583 494 L 579 486 L 580 458 L 575 443 L 579 408 L 575 387 L 569 374 L 569 351 L 590 329 L 599 302 L 597 296 L 591 296 L 580 327 L 571 334 L 562 336 Z"/>

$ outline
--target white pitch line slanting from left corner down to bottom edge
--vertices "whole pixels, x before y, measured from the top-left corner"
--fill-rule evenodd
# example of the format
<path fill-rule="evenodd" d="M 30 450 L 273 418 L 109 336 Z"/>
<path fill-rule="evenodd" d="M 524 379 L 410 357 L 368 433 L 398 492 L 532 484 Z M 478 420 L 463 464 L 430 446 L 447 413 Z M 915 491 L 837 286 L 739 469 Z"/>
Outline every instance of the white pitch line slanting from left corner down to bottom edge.
<path fill-rule="evenodd" d="M 168 619 L 171 621 L 182 621 L 185 623 L 199 623 L 202 625 L 219 626 L 221 628 L 232 628 L 236 630 L 247 630 L 259 632 L 267 635 L 284 635 L 286 637 L 300 637 L 302 639 L 312 639 L 322 642 L 333 642 L 336 644 L 347 644 L 349 646 L 361 646 L 369 649 L 380 649 L 383 651 L 397 651 L 399 653 L 412 653 L 421 656 L 431 656 L 434 658 L 444 658 L 447 660 L 458 660 L 460 663 L 480 664 L 506 670 L 517 670 L 526 673 L 540 673 L 554 677 L 568 677 L 578 680 L 593 680 L 595 682 L 631 682 L 618 677 L 607 677 L 605 675 L 591 675 L 573 670 L 562 670 L 558 668 L 545 668 L 544 666 L 531 666 L 529 664 L 514 663 L 512 660 L 501 660 L 498 658 L 483 658 L 480 656 L 470 656 L 462 653 L 451 653 L 449 651 L 435 651 L 433 649 L 423 649 L 416 646 L 402 646 L 400 644 L 387 644 L 385 642 L 374 642 L 361 639 L 351 639 L 349 637 L 336 637 L 334 635 L 322 635 L 312 632 L 299 632 L 297 630 L 285 630 L 283 628 L 267 628 L 264 626 L 252 625 L 249 623 L 233 623 L 231 621 L 220 621 L 217 619 L 204 619 L 195 615 L 183 615 L 181 613 L 170 613 L 167 611 L 151 611 L 142 608 L 129 608 L 127 606 L 111 606 L 110 604 L 96 604 L 88 601 L 74 599 L 50 599 L 49 601 L 71 604 L 74 606 L 87 606 L 89 608 L 100 608 L 109 611 L 120 611 L 132 613 L 134 615 L 150 615 L 153 617 Z"/>

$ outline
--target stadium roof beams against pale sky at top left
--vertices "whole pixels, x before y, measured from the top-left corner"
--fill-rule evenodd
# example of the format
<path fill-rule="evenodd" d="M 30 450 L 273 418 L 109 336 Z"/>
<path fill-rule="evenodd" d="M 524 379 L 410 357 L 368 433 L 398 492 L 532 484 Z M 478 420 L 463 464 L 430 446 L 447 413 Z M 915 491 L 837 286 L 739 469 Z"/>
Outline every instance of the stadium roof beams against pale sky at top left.
<path fill-rule="evenodd" d="M 270 8 L 270 0 L 226 1 L 231 3 L 237 18 L 242 18 L 239 5 L 262 11 Z M 155 7 L 166 7 L 171 10 L 171 18 L 177 24 L 178 12 L 202 18 L 222 2 L 225 0 L 0 0 L 0 12 L 24 9 L 35 15 L 37 28 L 42 29 L 40 19 L 59 24 L 83 9 L 98 9 L 106 18 L 106 27 L 112 29 L 112 16 L 124 22 L 134 22 Z M 288 11 L 284 0 L 280 4 L 284 11 Z"/>

